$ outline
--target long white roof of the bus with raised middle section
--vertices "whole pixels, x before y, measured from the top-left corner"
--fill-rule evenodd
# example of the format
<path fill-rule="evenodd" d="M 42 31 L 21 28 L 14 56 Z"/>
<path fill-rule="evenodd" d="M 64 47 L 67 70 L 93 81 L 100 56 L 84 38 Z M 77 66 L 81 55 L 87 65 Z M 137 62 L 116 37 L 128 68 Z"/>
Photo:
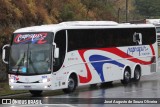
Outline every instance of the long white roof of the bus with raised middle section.
<path fill-rule="evenodd" d="M 96 28 L 145 28 L 153 24 L 118 24 L 113 21 L 69 21 L 59 24 L 31 26 L 17 29 L 14 33 L 23 32 L 56 32 L 62 29 L 96 29 Z"/>

